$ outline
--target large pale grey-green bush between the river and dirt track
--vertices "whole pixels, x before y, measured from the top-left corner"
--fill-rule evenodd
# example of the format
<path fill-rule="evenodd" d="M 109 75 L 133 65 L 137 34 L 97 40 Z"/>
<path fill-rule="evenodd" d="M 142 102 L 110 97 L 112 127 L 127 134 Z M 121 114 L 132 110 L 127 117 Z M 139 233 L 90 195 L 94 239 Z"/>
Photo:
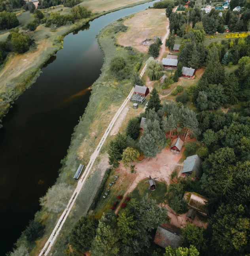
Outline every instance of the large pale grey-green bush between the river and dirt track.
<path fill-rule="evenodd" d="M 44 197 L 39 199 L 40 205 L 44 206 L 49 212 L 61 212 L 66 208 L 73 191 L 72 185 L 66 183 L 55 184 L 48 189 Z"/>

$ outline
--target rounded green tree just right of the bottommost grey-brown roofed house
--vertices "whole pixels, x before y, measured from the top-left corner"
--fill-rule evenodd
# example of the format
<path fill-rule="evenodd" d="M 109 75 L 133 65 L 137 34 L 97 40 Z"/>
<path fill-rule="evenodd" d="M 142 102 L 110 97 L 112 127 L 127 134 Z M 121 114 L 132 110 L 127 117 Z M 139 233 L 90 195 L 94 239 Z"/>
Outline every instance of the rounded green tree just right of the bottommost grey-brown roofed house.
<path fill-rule="evenodd" d="M 203 238 L 203 228 L 197 227 L 194 224 L 187 224 L 186 229 L 183 229 L 182 239 L 184 246 L 188 247 L 194 245 L 199 251 L 205 243 L 205 239 Z"/>

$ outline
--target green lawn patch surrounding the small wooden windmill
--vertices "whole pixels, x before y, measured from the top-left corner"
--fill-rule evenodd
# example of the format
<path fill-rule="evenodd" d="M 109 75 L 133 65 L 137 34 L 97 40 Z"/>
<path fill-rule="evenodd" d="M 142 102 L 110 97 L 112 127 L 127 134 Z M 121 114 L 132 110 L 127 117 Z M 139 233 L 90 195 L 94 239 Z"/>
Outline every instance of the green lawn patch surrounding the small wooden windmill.
<path fill-rule="evenodd" d="M 148 178 L 141 180 L 129 196 L 140 201 L 143 197 L 150 193 L 148 197 L 155 200 L 157 204 L 166 203 L 167 184 L 164 181 L 155 180 L 156 189 L 155 191 L 150 192 L 148 189 L 149 183 L 145 182 L 147 180 Z"/>

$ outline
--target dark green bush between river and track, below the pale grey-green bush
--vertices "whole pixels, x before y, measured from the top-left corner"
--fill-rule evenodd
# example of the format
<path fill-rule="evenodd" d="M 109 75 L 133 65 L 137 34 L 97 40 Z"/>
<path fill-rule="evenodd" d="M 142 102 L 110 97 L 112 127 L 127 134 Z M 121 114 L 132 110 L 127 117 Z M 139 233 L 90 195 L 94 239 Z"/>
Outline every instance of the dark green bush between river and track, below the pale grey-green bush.
<path fill-rule="evenodd" d="M 44 225 L 36 220 L 30 220 L 25 231 L 23 231 L 23 235 L 26 236 L 29 243 L 32 243 L 44 235 Z"/>

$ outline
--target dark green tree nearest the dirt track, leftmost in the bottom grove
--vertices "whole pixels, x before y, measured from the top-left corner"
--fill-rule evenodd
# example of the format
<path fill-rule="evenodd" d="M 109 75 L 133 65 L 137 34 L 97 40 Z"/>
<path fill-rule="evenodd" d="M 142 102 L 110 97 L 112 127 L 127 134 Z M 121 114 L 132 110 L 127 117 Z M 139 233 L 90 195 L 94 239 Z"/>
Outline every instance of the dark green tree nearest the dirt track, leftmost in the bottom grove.
<path fill-rule="evenodd" d="M 97 219 L 82 217 L 70 232 L 70 245 L 78 251 L 89 251 L 92 240 L 96 235 L 97 227 Z"/>

